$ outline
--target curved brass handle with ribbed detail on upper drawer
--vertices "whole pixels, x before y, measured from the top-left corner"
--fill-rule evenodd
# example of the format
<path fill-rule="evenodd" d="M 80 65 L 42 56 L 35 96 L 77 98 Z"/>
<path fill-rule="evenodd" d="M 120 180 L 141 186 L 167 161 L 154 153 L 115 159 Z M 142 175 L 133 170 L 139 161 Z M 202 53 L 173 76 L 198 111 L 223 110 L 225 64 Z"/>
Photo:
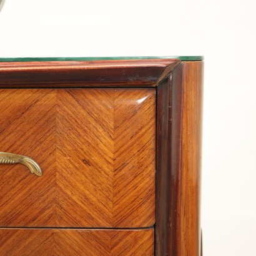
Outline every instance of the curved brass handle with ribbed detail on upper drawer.
<path fill-rule="evenodd" d="M 31 171 L 31 174 L 36 174 L 37 176 L 42 175 L 39 164 L 32 158 L 24 155 L 0 152 L 0 164 L 23 164 Z"/>

